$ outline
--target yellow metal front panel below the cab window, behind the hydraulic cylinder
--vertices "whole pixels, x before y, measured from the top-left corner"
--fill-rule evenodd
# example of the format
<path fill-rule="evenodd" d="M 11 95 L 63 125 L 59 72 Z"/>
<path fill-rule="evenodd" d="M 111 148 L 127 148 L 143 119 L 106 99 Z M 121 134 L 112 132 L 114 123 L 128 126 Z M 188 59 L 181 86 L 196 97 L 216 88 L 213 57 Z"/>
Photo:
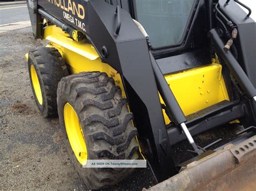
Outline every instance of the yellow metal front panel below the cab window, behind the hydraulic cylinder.
<path fill-rule="evenodd" d="M 165 75 L 165 79 L 185 116 L 221 101 L 229 100 L 221 69 L 221 65 L 212 63 L 184 72 Z M 161 98 L 160 100 L 163 103 Z M 164 116 L 165 122 L 170 123 L 165 112 Z"/>

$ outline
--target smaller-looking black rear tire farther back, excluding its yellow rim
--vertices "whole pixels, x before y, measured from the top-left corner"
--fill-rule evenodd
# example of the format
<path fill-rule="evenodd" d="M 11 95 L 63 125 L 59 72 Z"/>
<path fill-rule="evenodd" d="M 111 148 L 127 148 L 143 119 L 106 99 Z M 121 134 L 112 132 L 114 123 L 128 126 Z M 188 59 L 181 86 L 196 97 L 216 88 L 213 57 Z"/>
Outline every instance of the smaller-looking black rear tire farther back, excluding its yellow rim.
<path fill-rule="evenodd" d="M 31 80 L 31 65 L 36 70 L 43 96 L 43 104 L 39 104 Z M 66 64 L 55 48 L 38 47 L 29 52 L 28 69 L 30 84 L 37 107 L 44 117 L 55 117 L 57 111 L 57 88 L 62 77 L 68 76 Z"/>

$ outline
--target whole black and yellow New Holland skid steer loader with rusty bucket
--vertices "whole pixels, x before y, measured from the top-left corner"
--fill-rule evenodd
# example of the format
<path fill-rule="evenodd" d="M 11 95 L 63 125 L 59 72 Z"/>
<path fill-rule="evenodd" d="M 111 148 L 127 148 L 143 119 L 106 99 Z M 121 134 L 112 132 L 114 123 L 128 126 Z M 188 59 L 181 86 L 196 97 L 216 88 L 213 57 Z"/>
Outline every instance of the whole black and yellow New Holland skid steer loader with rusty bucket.
<path fill-rule="evenodd" d="M 33 95 L 59 117 L 87 188 L 133 168 L 83 168 L 90 159 L 144 157 L 151 189 L 256 188 L 256 25 L 238 0 L 28 0 L 35 39 Z M 244 9 L 247 11 L 244 11 Z M 195 137 L 242 130 L 217 148 Z M 228 135 L 224 135 L 227 137 Z M 187 160 L 175 145 L 190 147 Z M 203 147 L 204 146 L 204 147 Z M 187 151 L 188 150 L 188 151 Z"/>

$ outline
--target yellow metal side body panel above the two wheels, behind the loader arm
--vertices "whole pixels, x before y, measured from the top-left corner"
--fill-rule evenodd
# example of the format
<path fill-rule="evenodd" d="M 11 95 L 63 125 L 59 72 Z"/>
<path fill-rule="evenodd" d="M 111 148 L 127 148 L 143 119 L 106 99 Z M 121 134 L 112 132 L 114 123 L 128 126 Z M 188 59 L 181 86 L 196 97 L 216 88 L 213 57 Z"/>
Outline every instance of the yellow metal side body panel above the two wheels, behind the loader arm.
<path fill-rule="evenodd" d="M 72 40 L 55 25 L 44 29 L 44 38 L 50 41 L 48 47 L 55 47 L 62 54 L 72 74 L 88 71 L 105 72 L 113 77 L 116 86 L 122 89 L 122 97 L 126 97 L 120 74 L 110 65 L 102 62 L 95 48 L 86 40 L 79 42 Z"/>

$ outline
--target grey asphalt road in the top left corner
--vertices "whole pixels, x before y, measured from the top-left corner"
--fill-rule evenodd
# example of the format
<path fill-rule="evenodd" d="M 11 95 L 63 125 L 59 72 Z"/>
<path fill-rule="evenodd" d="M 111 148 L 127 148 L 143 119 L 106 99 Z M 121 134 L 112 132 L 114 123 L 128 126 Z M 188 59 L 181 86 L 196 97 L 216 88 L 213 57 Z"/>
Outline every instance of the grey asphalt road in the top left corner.
<path fill-rule="evenodd" d="M 26 4 L 11 4 L 0 6 L 0 26 L 29 20 Z"/>

